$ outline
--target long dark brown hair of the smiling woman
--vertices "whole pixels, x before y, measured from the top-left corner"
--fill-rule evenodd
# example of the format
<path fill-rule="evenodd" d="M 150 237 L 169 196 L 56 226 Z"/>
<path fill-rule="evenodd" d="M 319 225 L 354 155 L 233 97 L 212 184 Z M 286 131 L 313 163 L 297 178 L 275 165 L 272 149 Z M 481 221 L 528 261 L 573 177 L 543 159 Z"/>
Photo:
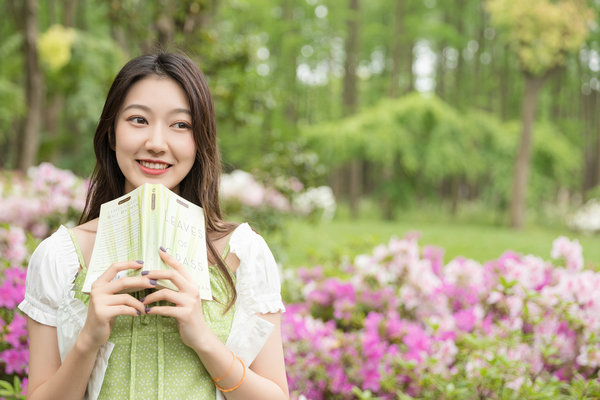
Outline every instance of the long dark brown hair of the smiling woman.
<path fill-rule="evenodd" d="M 206 245 L 219 272 L 229 287 L 231 297 L 227 310 L 237 297 L 235 284 L 212 240 L 224 237 L 235 229 L 221 216 L 219 180 L 221 157 L 217 145 L 217 126 L 210 90 L 198 66 L 187 56 L 174 53 L 144 55 L 129 61 L 115 77 L 108 91 L 104 109 L 94 134 L 96 166 L 92 172 L 85 208 L 79 223 L 100 215 L 102 203 L 122 196 L 125 176 L 115 155 L 115 120 L 131 86 L 146 76 L 167 77 L 176 81 L 185 92 L 192 112 L 192 130 L 196 143 L 196 159 L 192 169 L 179 184 L 179 194 L 204 209 Z"/>

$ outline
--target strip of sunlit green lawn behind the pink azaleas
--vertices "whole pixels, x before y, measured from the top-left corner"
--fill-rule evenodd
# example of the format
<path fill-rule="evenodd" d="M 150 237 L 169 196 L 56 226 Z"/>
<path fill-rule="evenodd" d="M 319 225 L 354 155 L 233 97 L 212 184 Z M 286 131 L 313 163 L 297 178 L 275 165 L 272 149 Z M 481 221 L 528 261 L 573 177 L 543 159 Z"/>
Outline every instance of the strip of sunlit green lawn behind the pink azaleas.
<path fill-rule="evenodd" d="M 387 222 L 377 218 L 353 221 L 344 217 L 317 224 L 292 220 L 286 224 L 285 240 L 276 239 L 276 246 L 282 250 L 281 261 L 288 266 L 335 265 L 343 257 L 352 260 L 358 254 L 370 253 L 392 236 L 418 231 L 421 246 L 435 245 L 445 250 L 445 262 L 457 256 L 485 262 L 509 249 L 551 260 L 552 241 L 563 235 L 579 240 L 586 265 L 600 266 L 598 236 L 585 236 L 567 228 L 532 226 L 516 231 L 491 223 L 422 219 L 413 216 Z"/>

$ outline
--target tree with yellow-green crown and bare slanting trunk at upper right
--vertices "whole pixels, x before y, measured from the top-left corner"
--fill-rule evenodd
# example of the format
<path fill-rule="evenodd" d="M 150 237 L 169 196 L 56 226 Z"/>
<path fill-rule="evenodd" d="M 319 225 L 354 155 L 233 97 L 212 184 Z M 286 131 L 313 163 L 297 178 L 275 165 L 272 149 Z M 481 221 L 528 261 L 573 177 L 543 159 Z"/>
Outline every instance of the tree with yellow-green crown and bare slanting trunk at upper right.
<path fill-rule="evenodd" d="M 584 0 L 488 0 L 487 6 L 492 23 L 504 30 L 505 40 L 517 54 L 525 79 L 510 208 L 511 226 L 521 228 L 540 89 L 565 65 L 566 55 L 581 48 L 593 15 Z"/>

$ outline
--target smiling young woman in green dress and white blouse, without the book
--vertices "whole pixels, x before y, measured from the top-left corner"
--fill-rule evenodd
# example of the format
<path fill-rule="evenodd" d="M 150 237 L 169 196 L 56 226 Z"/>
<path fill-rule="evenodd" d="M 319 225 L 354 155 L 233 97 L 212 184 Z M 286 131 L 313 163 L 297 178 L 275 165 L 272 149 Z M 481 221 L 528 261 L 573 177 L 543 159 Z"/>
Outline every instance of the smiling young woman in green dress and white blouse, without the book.
<path fill-rule="evenodd" d="M 94 136 L 96 167 L 81 225 L 61 226 L 31 257 L 25 300 L 29 399 L 287 399 L 277 266 L 247 224 L 224 222 L 215 116 L 198 67 L 142 56 L 119 72 Z M 203 207 L 211 289 L 201 301 L 185 269 L 114 279 L 81 291 L 100 205 L 161 183 Z M 154 289 L 168 279 L 179 290 Z M 144 288 L 139 290 L 139 288 Z M 130 294 L 123 292 L 138 289 Z"/>

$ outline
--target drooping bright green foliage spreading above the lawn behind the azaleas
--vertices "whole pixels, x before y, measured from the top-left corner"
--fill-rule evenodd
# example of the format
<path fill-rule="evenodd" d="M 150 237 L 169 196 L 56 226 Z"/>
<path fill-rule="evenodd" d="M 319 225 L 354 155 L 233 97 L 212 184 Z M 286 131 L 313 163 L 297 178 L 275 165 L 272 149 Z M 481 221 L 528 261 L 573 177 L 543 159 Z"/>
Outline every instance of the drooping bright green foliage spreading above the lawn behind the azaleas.
<path fill-rule="evenodd" d="M 531 204 L 552 201 L 559 188 L 576 190 L 573 176 L 581 173 L 570 135 L 550 122 L 535 130 Z M 516 122 L 502 123 L 481 110 L 461 114 L 420 94 L 382 100 L 346 119 L 303 129 L 309 148 L 330 169 L 368 161 L 376 193 L 391 196 L 397 205 L 409 204 L 415 194 L 437 196 L 440 183 L 457 181 L 500 209 L 508 204 L 518 133 Z M 392 170 L 387 179 L 386 168 Z"/>

